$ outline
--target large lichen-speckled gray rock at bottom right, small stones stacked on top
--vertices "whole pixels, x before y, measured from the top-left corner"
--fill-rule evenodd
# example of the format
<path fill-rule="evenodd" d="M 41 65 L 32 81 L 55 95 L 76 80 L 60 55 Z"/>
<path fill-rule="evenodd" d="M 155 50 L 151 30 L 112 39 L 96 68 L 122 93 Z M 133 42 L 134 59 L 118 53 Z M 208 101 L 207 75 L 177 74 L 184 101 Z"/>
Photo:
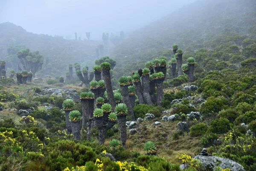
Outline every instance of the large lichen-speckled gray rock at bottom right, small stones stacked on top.
<path fill-rule="evenodd" d="M 242 165 L 226 158 L 197 155 L 194 159 L 200 160 L 204 169 L 208 168 L 209 171 L 213 171 L 218 166 L 222 169 L 230 168 L 230 171 L 245 171 Z"/>

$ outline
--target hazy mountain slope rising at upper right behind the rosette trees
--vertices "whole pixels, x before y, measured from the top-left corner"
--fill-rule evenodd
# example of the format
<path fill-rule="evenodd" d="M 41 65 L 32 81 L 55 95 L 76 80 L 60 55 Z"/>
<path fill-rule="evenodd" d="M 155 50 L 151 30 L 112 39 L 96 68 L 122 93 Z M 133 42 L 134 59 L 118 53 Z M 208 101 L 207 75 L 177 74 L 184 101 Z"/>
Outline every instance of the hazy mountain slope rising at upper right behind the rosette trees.
<path fill-rule="evenodd" d="M 145 61 L 163 55 L 174 43 L 185 51 L 186 59 L 200 48 L 214 49 L 228 37 L 255 39 L 250 30 L 253 25 L 256 25 L 254 0 L 198 0 L 134 32 L 113 52 L 116 70 L 121 76 L 144 67 Z M 237 44 L 231 41 L 225 43 Z"/>

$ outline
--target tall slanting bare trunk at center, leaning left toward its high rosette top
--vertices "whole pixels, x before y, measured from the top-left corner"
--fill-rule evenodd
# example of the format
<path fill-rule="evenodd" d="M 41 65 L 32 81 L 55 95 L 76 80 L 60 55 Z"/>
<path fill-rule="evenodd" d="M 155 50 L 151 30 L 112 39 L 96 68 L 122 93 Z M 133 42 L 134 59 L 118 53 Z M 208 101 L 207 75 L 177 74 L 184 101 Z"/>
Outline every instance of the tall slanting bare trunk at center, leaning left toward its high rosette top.
<path fill-rule="evenodd" d="M 110 76 L 110 71 L 109 70 L 102 70 L 103 77 L 104 77 L 104 82 L 105 82 L 105 87 L 108 93 L 108 100 L 109 103 L 111 104 L 112 110 L 115 110 L 116 106 L 116 101 L 113 95 L 113 90 L 112 90 L 112 85 L 111 85 L 111 76 Z"/>

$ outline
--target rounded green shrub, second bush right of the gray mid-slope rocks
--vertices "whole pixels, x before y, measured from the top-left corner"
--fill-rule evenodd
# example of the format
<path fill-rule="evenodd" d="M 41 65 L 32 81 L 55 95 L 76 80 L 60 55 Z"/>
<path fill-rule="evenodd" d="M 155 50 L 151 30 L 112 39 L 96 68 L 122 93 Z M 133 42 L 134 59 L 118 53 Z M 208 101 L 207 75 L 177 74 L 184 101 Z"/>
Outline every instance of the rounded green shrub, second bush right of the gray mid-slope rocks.
<path fill-rule="evenodd" d="M 230 129 L 230 122 L 226 118 L 212 120 L 209 131 L 213 133 L 226 133 Z"/>

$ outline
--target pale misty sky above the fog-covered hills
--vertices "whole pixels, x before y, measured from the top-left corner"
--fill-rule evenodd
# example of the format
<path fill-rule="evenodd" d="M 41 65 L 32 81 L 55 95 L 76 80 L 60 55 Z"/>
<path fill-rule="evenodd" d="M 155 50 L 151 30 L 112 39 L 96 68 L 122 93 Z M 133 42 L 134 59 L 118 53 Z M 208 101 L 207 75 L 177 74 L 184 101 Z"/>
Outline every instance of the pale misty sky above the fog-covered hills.
<path fill-rule="evenodd" d="M 101 39 L 139 29 L 195 0 L 0 0 L 0 23 L 37 34 Z"/>

